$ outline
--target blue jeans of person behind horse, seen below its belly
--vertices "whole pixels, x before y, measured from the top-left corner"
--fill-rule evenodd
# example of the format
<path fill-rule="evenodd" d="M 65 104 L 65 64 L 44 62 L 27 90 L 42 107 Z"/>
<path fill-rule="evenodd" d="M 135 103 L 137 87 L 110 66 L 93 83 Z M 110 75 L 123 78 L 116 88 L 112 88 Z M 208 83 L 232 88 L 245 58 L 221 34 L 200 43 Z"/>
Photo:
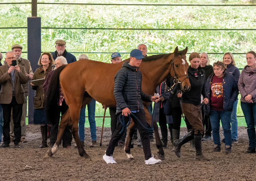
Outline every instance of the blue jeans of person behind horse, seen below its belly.
<path fill-rule="evenodd" d="M 88 120 L 90 124 L 90 137 L 92 141 L 96 141 L 96 121 L 95 121 L 95 105 L 96 101 L 92 101 L 87 105 L 88 108 Z M 78 134 L 81 141 L 84 141 L 84 123 L 85 123 L 85 108 L 81 108 L 80 117 L 78 122 Z"/>

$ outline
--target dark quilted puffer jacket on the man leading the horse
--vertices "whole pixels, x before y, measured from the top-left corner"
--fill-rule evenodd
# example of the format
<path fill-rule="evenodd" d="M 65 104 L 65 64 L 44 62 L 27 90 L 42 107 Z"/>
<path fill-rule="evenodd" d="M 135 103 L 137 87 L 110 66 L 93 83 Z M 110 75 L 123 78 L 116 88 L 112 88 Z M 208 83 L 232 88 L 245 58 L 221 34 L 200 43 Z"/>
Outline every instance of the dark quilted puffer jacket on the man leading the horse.
<path fill-rule="evenodd" d="M 143 101 L 151 102 L 151 96 L 142 92 L 142 73 L 139 67 L 124 62 L 114 77 L 114 98 L 117 102 L 116 114 L 124 108 L 131 111 L 144 110 Z"/>

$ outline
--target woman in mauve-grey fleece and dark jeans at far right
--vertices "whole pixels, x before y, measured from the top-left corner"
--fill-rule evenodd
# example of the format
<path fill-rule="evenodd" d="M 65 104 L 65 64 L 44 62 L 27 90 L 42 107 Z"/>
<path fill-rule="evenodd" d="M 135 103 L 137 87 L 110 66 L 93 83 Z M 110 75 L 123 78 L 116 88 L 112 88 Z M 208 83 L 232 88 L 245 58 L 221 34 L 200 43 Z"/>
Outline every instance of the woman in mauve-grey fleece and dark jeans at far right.
<path fill-rule="evenodd" d="M 247 65 L 241 72 L 238 89 L 241 93 L 241 108 L 247 124 L 249 148 L 245 153 L 255 153 L 256 148 L 256 53 L 246 54 Z"/>

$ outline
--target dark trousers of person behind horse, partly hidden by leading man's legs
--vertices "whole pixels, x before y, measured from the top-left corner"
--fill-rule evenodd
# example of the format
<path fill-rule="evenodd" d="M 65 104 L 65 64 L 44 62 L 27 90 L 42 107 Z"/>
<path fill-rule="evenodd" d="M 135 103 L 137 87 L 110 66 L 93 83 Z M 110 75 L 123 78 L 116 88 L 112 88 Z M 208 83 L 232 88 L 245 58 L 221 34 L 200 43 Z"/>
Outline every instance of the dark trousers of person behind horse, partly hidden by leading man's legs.
<path fill-rule="evenodd" d="M 114 134 L 114 131 L 117 129 L 117 115 L 115 114 L 117 108 L 109 108 L 109 114 L 111 118 L 110 126 L 111 126 L 111 135 Z M 122 137 L 118 140 L 118 143 L 125 143 L 127 128 L 124 128 L 122 132 Z"/>

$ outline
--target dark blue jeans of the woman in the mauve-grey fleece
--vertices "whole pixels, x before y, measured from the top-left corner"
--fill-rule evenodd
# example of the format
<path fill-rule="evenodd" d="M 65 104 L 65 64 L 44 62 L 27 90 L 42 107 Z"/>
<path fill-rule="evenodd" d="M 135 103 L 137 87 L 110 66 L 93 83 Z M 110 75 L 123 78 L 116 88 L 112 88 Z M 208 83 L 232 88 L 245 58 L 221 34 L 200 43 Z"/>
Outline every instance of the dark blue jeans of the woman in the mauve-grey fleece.
<path fill-rule="evenodd" d="M 256 102 L 245 103 L 241 102 L 241 108 L 244 113 L 245 122 L 247 124 L 247 134 L 249 137 L 249 146 L 256 148 Z"/>

